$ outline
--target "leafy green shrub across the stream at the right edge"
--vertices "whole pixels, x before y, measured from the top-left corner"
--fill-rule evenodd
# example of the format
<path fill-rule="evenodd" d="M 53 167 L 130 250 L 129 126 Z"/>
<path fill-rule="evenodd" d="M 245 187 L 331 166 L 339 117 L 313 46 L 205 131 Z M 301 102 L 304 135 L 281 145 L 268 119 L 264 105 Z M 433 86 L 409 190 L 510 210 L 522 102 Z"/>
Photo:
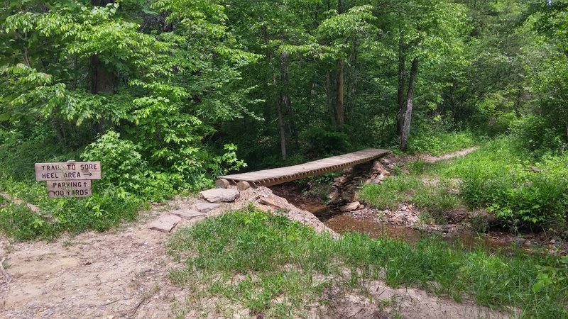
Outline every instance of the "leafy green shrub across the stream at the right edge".
<path fill-rule="evenodd" d="M 467 168 L 461 167 L 461 196 L 471 206 L 488 208 L 515 227 L 564 223 L 568 211 L 568 155 L 549 155 L 532 164 L 520 155 L 506 160 L 515 152 L 514 145 L 515 140 L 508 138 L 484 150 L 493 152 L 493 158 L 470 157 Z"/>

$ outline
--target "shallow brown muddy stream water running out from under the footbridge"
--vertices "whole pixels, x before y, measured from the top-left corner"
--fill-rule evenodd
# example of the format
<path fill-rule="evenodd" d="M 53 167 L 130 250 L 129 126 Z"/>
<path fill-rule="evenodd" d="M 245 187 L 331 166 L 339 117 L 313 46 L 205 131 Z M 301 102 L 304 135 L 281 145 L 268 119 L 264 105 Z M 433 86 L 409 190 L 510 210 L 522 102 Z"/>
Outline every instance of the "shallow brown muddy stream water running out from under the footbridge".
<path fill-rule="evenodd" d="M 438 236 L 441 237 L 444 242 L 466 250 L 474 250 L 477 247 L 484 247 L 486 250 L 490 251 L 507 251 L 511 249 L 510 243 L 503 241 L 498 234 L 476 235 L 474 233 L 459 233 L 449 235 L 445 233 L 421 232 L 404 226 L 378 223 L 368 218 L 354 218 L 350 213 L 342 213 L 325 205 L 320 198 L 305 196 L 302 194 L 302 189 L 298 188 L 295 184 L 282 184 L 273 186 L 271 189 L 274 194 L 286 198 L 288 202 L 292 203 L 297 208 L 310 211 L 317 218 L 322 220 L 327 227 L 340 234 L 359 232 L 372 238 L 389 237 L 403 240 L 410 244 L 415 244 L 425 237 Z"/>

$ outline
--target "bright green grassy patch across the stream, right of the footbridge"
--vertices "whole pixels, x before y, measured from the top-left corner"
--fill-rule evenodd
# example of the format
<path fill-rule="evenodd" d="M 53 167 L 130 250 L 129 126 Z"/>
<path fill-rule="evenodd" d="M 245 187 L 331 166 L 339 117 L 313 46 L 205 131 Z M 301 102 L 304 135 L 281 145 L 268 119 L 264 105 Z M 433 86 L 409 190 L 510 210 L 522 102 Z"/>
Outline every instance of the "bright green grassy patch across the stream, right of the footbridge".
<path fill-rule="evenodd" d="M 460 206 L 486 208 L 514 230 L 562 233 L 568 229 L 568 154 L 535 158 L 518 145 L 502 137 L 466 157 L 408 163 L 383 184 L 364 186 L 361 199 L 378 209 L 414 203 L 440 222 Z"/>

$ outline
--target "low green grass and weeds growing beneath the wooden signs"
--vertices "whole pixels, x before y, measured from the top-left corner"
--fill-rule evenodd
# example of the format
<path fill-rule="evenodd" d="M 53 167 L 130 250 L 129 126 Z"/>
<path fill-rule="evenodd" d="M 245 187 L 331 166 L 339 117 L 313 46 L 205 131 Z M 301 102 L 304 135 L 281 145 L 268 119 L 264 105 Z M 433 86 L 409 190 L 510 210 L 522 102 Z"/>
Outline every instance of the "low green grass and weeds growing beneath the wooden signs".
<path fill-rule="evenodd" d="M 0 178 L 0 191 L 40 208 L 42 216 L 25 204 L 0 206 L 0 232 L 16 240 L 55 240 L 62 233 L 104 231 L 134 220 L 145 201 L 107 189 L 89 198 L 48 198 L 45 184 Z M 47 217 L 47 218 L 46 218 Z"/>

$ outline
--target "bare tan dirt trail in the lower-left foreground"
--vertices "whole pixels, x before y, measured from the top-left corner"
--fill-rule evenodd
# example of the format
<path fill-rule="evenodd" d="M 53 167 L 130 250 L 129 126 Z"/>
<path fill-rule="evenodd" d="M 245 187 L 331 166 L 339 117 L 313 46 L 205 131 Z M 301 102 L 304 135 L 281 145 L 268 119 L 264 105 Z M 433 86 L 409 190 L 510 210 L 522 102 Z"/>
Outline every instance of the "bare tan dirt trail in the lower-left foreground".
<path fill-rule="evenodd" d="M 0 240 L 13 280 L 2 284 L 1 318 L 166 318 L 171 296 L 167 235 L 146 222 L 116 233 L 57 242 Z"/>

